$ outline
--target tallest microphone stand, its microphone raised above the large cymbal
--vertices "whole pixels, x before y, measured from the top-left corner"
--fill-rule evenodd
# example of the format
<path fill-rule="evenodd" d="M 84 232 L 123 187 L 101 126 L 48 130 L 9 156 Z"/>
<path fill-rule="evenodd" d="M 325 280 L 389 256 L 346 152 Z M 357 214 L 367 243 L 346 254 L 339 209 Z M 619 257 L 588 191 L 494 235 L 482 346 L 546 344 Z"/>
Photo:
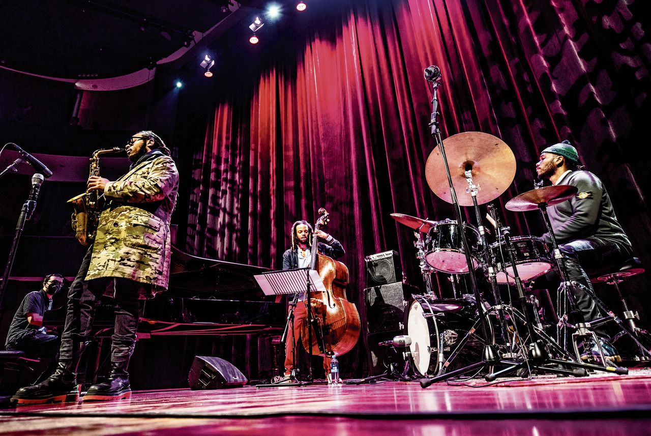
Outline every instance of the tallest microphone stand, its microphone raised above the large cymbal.
<path fill-rule="evenodd" d="M 428 74 L 428 70 L 430 74 Z M 482 352 L 482 361 L 466 366 L 465 368 L 461 368 L 460 370 L 449 372 L 448 374 L 443 374 L 437 377 L 433 377 L 432 379 L 423 380 L 421 381 L 421 387 L 423 388 L 428 387 L 432 383 L 436 383 L 436 381 L 449 379 L 450 377 L 454 377 L 458 374 L 465 374 L 467 372 L 477 370 L 478 368 L 492 365 L 493 362 L 499 361 L 499 353 L 497 351 L 497 347 L 495 346 L 495 339 L 489 334 L 488 323 L 486 322 L 485 317 L 482 316 L 482 307 L 481 307 L 482 300 L 481 300 L 481 295 L 479 293 L 479 287 L 477 284 L 477 277 L 475 277 L 473 271 L 473 259 L 470 255 L 470 245 L 468 244 L 468 239 L 465 237 L 464 221 L 462 221 L 461 208 L 459 206 L 459 201 L 456 197 L 454 184 L 452 183 L 452 176 L 450 175 L 450 165 L 448 163 L 447 156 L 445 156 L 445 146 L 443 145 L 443 139 L 441 138 L 441 129 L 439 128 L 439 120 L 437 118 L 439 115 L 438 88 L 439 86 L 441 86 L 441 72 L 437 67 L 430 67 L 427 68 L 425 77 L 428 81 L 432 83 L 432 89 L 433 89 L 432 117 L 430 118 L 430 124 L 429 124 L 430 133 L 432 134 L 432 137 L 436 139 L 436 142 L 439 146 L 439 150 L 441 152 L 441 157 L 443 157 L 445 174 L 447 176 L 448 185 L 450 187 L 450 198 L 452 200 L 452 206 L 454 206 L 454 215 L 456 217 L 456 222 L 461 229 L 459 234 L 461 237 L 462 245 L 464 247 L 465 261 L 467 262 L 467 266 L 469 270 L 471 288 L 475 295 L 475 305 L 477 306 L 477 314 L 479 316 L 481 331 L 482 331 L 481 333 L 485 340 L 484 343 L 486 344 L 486 346 L 484 347 L 484 350 Z"/>

